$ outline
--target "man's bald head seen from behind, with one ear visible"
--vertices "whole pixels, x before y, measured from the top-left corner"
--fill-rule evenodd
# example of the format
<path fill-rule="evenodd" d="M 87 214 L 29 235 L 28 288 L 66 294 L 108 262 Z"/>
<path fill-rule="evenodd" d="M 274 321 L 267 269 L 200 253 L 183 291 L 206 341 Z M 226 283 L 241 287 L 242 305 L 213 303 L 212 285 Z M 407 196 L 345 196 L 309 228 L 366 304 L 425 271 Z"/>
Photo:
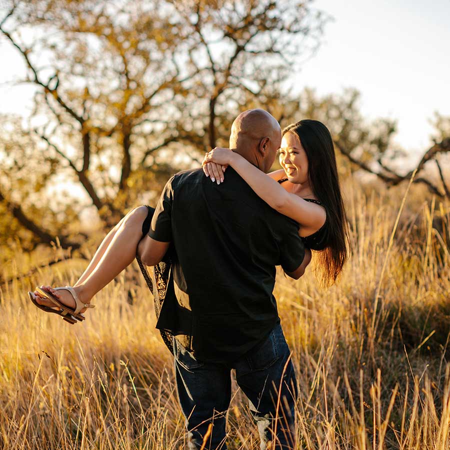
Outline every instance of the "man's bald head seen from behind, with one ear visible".
<path fill-rule="evenodd" d="M 279 124 L 263 109 L 241 112 L 231 126 L 229 147 L 264 172 L 273 164 L 280 143 Z"/>

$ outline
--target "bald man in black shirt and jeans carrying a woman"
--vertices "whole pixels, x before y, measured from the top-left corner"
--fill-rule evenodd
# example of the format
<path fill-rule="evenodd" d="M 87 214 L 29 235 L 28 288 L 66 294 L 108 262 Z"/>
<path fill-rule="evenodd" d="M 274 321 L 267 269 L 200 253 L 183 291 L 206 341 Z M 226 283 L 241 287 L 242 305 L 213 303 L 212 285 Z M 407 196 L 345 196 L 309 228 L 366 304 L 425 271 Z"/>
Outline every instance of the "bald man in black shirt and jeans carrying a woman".
<path fill-rule="evenodd" d="M 250 109 L 234 120 L 229 146 L 267 172 L 280 141 L 278 122 Z M 220 185 L 194 169 L 167 182 L 138 254 L 154 265 L 170 243 L 176 307 L 161 310 L 157 327 L 177 335 L 176 385 L 189 448 L 200 448 L 211 423 L 205 448 L 226 448 L 231 369 L 249 399 L 261 448 L 267 441 L 293 448 L 296 382 L 272 290 L 275 265 L 298 278 L 309 262 L 302 263 L 298 225 L 231 167 Z"/>

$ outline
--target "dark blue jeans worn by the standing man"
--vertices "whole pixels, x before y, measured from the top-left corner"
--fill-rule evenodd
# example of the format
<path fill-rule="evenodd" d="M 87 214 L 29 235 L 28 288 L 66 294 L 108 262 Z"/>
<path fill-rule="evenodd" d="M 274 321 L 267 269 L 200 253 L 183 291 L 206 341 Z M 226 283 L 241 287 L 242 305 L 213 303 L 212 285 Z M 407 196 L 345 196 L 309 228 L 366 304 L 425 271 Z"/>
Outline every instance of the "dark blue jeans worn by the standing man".
<path fill-rule="evenodd" d="M 201 447 L 212 423 L 205 449 L 225 450 L 225 414 L 231 399 L 232 368 L 248 397 L 257 423 L 261 450 L 275 440 L 277 450 L 294 448 L 294 405 L 297 395 L 290 351 L 276 325 L 255 349 L 232 364 L 202 362 L 174 339 L 178 398 L 186 418 L 189 449 Z M 280 395 L 279 395 L 280 394 Z"/>

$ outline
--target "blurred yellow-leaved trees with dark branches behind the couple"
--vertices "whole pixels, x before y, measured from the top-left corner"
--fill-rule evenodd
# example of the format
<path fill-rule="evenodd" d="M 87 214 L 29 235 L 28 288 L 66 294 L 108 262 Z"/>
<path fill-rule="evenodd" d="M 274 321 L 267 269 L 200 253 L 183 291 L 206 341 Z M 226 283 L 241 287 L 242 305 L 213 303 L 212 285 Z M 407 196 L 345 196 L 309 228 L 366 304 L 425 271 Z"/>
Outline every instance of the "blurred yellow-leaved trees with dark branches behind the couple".
<path fill-rule="evenodd" d="M 83 212 L 109 226 L 154 202 L 170 174 L 227 146 L 233 118 L 250 107 L 282 126 L 323 121 L 343 168 L 390 185 L 409 178 L 389 165 L 401 153 L 395 122 L 366 122 L 357 91 L 319 97 L 292 85 L 327 21 L 310 3 L 7 1 L 1 35 L 27 73 L 15 81 L 35 93 L 29 117 L 0 117 L 2 240 L 13 235 L 33 248 L 58 236 L 78 247 Z M 437 116 L 420 170 L 450 149 L 448 128 Z M 440 184 L 416 181 L 448 195 L 438 168 Z"/>

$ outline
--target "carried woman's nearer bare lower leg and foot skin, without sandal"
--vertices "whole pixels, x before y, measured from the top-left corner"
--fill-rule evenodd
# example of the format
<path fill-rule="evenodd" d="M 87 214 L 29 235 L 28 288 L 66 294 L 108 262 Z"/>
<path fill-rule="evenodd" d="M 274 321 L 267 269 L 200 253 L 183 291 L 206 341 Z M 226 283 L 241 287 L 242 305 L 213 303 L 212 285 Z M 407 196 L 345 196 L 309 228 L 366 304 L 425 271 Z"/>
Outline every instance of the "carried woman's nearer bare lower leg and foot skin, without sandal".
<path fill-rule="evenodd" d="M 104 251 L 100 256 L 100 248 L 97 249 L 95 256 L 98 256 L 98 262 L 89 264 L 88 269 L 85 270 L 86 275 L 81 275 L 81 281 L 78 280 L 73 288 L 78 294 L 78 298 L 83 303 L 89 303 L 90 299 L 106 284 L 113 280 L 125 267 L 127 267 L 136 256 L 137 244 L 142 238 L 142 223 L 148 213 L 146 206 L 139 206 L 122 219 L 120 225 L 117 224 L 117 229 L 112 229 L 108 243 L 106 238 L 103 240 L 100 247 L 103 245 Z M 113 232 L 114 231 L 114 232 Z M 108 237 L 107 236 L 107 237 Z M 98 255 L 97 255 L 98 253 Z M 94 256 L 94 258 L 95 258 Z M 81 278 L 80 278 L 81 279 Z M 59 300 L 67 306 L 74 307 L 75 301 L 71 294 L 65 290 L 55 291 Z M 45 299 L 38 299 L 40 304 L 54 306 L 51 302 Z"/>

